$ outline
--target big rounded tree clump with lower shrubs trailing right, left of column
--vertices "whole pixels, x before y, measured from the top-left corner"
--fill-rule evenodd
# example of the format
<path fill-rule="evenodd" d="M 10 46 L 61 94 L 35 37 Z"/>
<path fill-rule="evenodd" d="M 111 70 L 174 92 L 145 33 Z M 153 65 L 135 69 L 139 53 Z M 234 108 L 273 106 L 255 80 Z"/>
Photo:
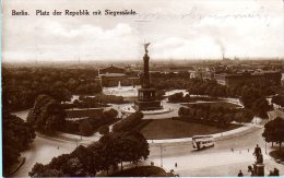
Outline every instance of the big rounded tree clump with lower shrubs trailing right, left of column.
<path fill-rule="evenodd" d="M 117 119 L 118 111 L 109 109 L 93 117 L 81 120 L 66 120 L 62 104 L 56 99 L 39 95 L 27 116 L 27 122 L 40 133 L 55 134 L 56 131 L 91 135 L 99 127 L 109 124 Z"/>

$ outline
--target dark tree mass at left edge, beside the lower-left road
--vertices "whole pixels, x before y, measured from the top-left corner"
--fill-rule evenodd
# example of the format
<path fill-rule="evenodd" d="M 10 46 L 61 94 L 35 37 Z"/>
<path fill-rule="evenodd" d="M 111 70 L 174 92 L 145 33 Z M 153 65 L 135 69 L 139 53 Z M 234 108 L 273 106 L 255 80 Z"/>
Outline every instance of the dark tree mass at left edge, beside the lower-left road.
<path fill-rule="evenodd" d="M 2 129 L 3 175 L 10 176 L 11 167 L 19 162 L 20 152 L 28 149 L 36 135 L 29 123 L 5 111 L 2 114 Z"/>

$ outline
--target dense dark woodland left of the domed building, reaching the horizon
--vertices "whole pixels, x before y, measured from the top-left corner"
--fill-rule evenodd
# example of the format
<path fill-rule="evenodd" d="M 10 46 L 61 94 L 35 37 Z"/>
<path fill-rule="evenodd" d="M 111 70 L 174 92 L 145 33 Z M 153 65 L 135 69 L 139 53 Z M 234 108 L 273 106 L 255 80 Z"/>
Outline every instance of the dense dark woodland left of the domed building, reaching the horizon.
<path fill-rule="evenodd" d="M 3 107 L 5 110 L 31 108 L 40 94 L 60 102 L 69 100 L 72 94 L 93 95 L 102 91 L 96 76 L 96 69 L 3 68 Z"/>

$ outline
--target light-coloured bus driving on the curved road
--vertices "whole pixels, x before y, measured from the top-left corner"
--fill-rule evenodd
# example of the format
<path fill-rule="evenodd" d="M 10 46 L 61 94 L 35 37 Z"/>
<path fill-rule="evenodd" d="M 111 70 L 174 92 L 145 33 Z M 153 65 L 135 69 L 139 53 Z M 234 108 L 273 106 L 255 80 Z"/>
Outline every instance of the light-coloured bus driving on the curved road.
<path fill-rule="evenodd" d="M 194 135 L 192 137 L 192 146 L 194 150 L 214 146 L 214 138 L 212 135 Z"/>

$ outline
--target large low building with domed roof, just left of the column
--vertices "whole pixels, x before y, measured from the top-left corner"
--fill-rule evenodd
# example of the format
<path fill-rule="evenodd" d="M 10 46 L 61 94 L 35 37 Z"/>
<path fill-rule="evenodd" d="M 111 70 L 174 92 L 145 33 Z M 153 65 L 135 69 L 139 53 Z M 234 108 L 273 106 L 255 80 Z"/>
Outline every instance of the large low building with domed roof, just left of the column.
<path fill-rule="evenodd" d="M 135 74 L 127 74 L 127 71 L 121 68 L 110 66 L 108 68 L 98 69 L 98 78 L 102 86 L 131 86 L 140 84 L 140 79 Z"/>

